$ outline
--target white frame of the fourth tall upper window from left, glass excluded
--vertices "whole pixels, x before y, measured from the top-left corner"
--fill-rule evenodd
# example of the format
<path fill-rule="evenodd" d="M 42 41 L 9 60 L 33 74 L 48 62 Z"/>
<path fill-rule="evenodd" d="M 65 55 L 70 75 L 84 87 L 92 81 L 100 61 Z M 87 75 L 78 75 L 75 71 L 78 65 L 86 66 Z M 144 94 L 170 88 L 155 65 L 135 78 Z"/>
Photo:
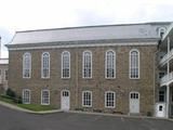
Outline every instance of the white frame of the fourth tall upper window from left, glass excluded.
<path fill-rule="evenodd" d="M 90 53 L 91 54 L 91 76 L 90 77 L 84 77 L 84 63 L 85 63 L 84 56 L 85 56 L 85 53 Z M 88 79 L 92 78 L 92 52 L 89 51 L 89 50 L 86 50 L 86 51 L 84 51 L 82 53 L 82 77 L 83 78 L 88 78 Z"/>

